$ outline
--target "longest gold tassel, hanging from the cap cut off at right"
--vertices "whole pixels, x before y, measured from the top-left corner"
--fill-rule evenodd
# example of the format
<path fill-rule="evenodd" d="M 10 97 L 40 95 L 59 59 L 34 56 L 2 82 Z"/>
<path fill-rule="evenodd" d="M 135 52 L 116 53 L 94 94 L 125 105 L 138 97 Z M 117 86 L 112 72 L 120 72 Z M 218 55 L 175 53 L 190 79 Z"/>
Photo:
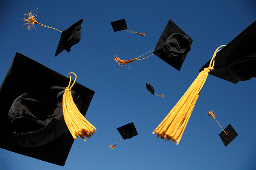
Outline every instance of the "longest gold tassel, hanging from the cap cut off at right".
<path fill-rule="evenodd" d="M 208 73 L 211 70 L 214 70 L 216 53 L 219 52 L 219 48 L 223 46 L 225 45 L 221 45 L 216 49 L 210 61 L 209 67 L 204 68 L 204 70 L 198 74 L 197 78 L 190 85 L 189 89 L 187 89 L 185 94 L 180 98 L 177 104 L 171 109 L 169 114 L 165 117 L 165 119 L 163 119 L 158 127 L 156 127 L 152 134 L 156 132 L 157 137 L 160 136 L 161 139 L 166 138 L 165 141 L 172 140 L 173 142 L 177 142 L 177 145 L 179 144 Z"/>

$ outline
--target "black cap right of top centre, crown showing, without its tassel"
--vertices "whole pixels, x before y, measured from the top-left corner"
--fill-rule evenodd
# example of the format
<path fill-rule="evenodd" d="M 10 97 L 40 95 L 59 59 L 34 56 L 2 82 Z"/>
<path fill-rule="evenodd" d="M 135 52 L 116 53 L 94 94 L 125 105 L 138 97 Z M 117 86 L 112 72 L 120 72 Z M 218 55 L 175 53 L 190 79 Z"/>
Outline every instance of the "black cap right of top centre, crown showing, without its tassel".
<path fill-rule="evenodd" d="M 192 42 L 193 39 L 170 19 L 158 40 L 154 54 L 180 71 Z"/>

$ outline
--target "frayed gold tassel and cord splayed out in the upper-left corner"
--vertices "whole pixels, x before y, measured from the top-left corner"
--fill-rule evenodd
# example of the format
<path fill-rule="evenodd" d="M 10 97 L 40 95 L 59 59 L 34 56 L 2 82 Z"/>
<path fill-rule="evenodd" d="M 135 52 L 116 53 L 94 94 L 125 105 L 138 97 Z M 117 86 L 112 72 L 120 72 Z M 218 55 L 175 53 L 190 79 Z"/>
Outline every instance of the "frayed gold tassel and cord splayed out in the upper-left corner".
<path fill-rule="evenodd" d="M 38 9 L 38 8 L 37 8 L 37 9 Z M 35 8 L 34 8 L 34 10 L 35 10 Z M 28 13 L 28 14 L 27 14 L 27 13 L 24 14 L 24 15 L 27 15 L 27 16 L 28 16 L 28 19 L 26 19 L 26 18 L 24 17 L 24 19 L 22 19 L 22 21 L 26 21 L 26 22 L 28 22 L 28 23 L 24 23 L 24 24 L 23 24 L 23 28 L 24 28 L 24 26 L 28 25 L 27 30 L 32 31 L 32 28 L 30 28 L 30 27 L 33 27 L 33 26 L 34 26 L 34 28 L 35 28 L 35 25 L 37 25 L 37 24 L 39 24 L 40 26 L 46 27 L 46 28 L 52 28 L 52 27 L 49 27 L 49 26 L 46 26 L 46 25 L 43 25 L 43 24 L 37 22 L 37 21 L 36 21 L 37 15 L 35 15 L 36 12 L 34 13 L 34 10 L 33 10 L 32 12 L 31 12 L 31 10 L 29 10 L 29 13 Z M 37 11 L 37 10 L 36 10 L 36 11 Z M 52 29 L 57 30 L 57 29 L 55 29 L 55 28 L 52 28 Z M 37 32 L 36 29 L 35 29 L 35 31 Z M 60 30 L 57 30 L 57 31 L 62 32 L 62 31 L 60 31 Z"/>

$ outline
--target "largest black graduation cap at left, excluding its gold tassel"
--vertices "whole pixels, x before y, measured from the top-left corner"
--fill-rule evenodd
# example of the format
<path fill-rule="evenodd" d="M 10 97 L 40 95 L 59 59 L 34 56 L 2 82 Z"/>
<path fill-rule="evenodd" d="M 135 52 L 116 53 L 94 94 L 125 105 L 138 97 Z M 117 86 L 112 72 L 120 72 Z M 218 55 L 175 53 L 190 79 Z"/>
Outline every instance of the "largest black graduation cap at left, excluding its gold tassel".
<path fill-rule="evenodd" d="M 68 125 L 63 123 L 64 94 L 72 91 L 74 104 L 83 117 L 94 95 L 94 91 L 74 84 L 75 81 L 72 90 L 65 88 L 71 82 L 62 74 L 15 53 L 0 86 L 0 148 L 64 166 L 74 142 Z"/>

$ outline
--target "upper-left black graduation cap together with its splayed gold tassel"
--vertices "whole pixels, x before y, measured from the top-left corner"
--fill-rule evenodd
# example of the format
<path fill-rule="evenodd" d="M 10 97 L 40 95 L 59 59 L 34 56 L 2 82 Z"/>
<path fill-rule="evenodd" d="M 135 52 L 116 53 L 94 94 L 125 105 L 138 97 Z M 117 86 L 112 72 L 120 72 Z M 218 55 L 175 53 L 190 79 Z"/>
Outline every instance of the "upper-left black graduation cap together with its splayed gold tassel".
<path fill-rule="evenodd" d="M 24 15 L 28 16 L 28 19 L 26 19 L 25 17 L 24 17 L 24 19 L 22 19 L 23 21 L 27 22 L 27 23 L 24 23 L 23 27 L 28 26 L 27 30 L 30 30 L 30 31 L 32 30 L 31 27 L 34 26 L 34 28 L 35 28 L 35 25 L 37 25 L 37 24 L 39 24 L 40 26 L 46 27 L 46 28 L 52 28 L 52 27 L 49 27 L 49 26 L 46 26 L 46 25 L 43 25 L 43 24 L 37 22 L 36 21 L 37 15 L 35 15 L 36 12 L 34 13 L 34 10 L 33 11 L 30 10 L 28 14 L 27 13 L 24 14 Z M 59 55 L 59 53 L 61 53 L 64 49 L 69 53 L 70 48 L 80 41 L 80 39 L 81 39 L 80 30 L 82 28 L 81 27 L 82 21 L 83 21 L 83 19 L 80 19 L 79 21 L 74 23 L 72 26 L 70 26 L 69 28 L 64 30 L 63 32 L 60 30 L 57 30 L 56 28 L 52 28 L 54 30 L 61 32 L 61 39 L 59 41 L 59 45 L 57 47 L 55 57 L 57 55 Z"/>

